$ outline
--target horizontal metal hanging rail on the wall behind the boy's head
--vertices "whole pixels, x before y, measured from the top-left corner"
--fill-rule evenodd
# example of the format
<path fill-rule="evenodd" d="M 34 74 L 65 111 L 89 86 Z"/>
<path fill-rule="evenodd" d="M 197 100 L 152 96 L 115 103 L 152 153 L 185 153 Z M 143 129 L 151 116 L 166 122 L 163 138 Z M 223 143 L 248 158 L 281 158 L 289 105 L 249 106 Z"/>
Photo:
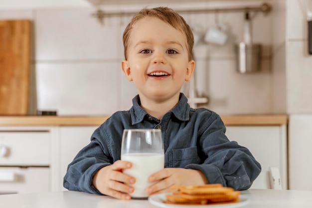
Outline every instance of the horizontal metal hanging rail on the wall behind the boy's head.
<path fill-rule="evenodd" d="M 198 8 L 198 9 L 174 9 L 178 13 L 208 13 L 208 12 L 245 12 L 245 11 L 260 11 L 265 15 L 272 10 L 272 6 L 268 3 L 262 3 L 260 6 L 245 6 L 245 7 L 224 7 L 224 8 Z M 105 12 L 102 9 L 98 9 L 92 14 L 102 24 L 105 17 L 110 16 L 130 16 L 137 13 L 137 11 L 110 11 Z"/>

